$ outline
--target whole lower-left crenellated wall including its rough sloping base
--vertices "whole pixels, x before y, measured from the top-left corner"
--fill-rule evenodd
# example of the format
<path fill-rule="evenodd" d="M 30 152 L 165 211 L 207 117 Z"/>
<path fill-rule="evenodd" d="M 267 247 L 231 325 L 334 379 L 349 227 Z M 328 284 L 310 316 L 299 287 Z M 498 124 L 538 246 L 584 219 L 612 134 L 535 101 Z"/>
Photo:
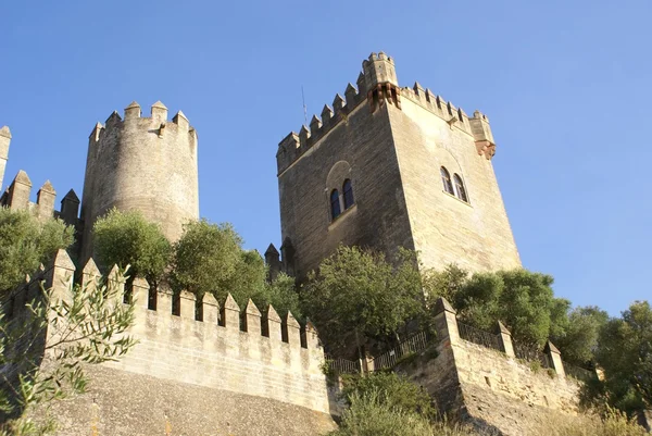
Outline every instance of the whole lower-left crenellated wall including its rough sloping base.
<path fill-rule="evenodd" d="M 116 271 L 108 278 L 124 289 Z M 15 292 L 12 316 L 25 311 L 40 281 L 65 298 L 75 273 L 60 250 L 51 267 Z M 78 273 L 82 286 L 101 276 L 92 259 Z M 230 295 L 221 304 L 206 295 L 198 321 L 192 295 L 184 291 L 173 304 L 172 292 L 159 290 L 155 300 L 149 292 L 143 279 L 135 279 L 128 335 L 138 344 L 118 361 L 88 366 L 88 394 L 54 403 L 58 435 L 85 434 L 93 420 L 104 429 L 100 434 L 125 436 L 162 434 L 165 421 L 180 432 L 174 434 L 188 435 L 316 435 L 334 428 L 324 351 L 310 323 L 301 326 L 291 313 L 281 319 L 273 307 L 261 314 L 251 301 L 241 311 Z M 42 410 L 29 413 L 38 418 Z"/>

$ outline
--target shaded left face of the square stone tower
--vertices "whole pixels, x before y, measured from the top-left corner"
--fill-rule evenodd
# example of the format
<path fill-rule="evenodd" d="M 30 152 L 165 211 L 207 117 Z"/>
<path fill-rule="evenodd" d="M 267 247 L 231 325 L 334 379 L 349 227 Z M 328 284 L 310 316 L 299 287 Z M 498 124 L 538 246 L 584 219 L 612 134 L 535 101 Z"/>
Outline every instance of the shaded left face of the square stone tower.
<path fill-rule="evenodd" d="M 344 108 L 364 97 L 349 95 Z M 278 175 L 283 240 L 289 237 L 296 249 L 299 277 L 340 242 L 390 257 L 400 246 L 414 248 L 387 109 L 371 113 L 363 101 L 337 125 L 330 123 L 310 147 L 303 141 L 294 151 L 281 142 L 288 150 L 280 152 L 302 153 Z M 352 180 L 355 205 L 331 222 L 329 195 L 334 188 L 341 194 L 346 178 Z"/>

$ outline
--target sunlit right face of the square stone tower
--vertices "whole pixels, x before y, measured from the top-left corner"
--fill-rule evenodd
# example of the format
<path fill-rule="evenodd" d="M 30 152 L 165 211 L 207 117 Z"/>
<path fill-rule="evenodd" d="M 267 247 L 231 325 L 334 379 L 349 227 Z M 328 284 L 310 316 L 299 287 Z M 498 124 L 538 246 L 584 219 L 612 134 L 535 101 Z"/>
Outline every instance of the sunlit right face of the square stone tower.
<path fill-rule="evenodd" d="M 389 108 L 389 121 L 414 246 L 424 265 L 456 263 L 471 271 L 521 266 L 491 161 L 478 154 L 468 119 L 450 126 L 423 92 L 402 88 L 401 98 L 401 110 Z M 454 108 L 452 112 L 457 115 Z M 468 203 L 444 191 L 442 165 L 451 177 L 462 176 Z"/>

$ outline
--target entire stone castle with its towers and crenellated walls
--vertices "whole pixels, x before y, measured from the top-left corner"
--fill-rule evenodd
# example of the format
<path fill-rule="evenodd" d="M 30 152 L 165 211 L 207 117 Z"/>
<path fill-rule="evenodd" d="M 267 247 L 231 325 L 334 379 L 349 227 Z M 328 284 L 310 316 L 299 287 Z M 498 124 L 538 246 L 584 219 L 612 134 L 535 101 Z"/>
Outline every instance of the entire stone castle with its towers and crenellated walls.
<path fill-rule="evenodd" d="M 385 53 L 363 62 L 356 85 L 278 146 L 283 245 L 280 253 L 273 245 L 265 252 L 271 270 L 304 277 L 340 242 L 388 256 L 398 247 L 415 249 L 431 267 L 519 266 L 491 165 L 496 144 L 487 116 L 476 111 L 469 117 L 418 84 L 401 87 Z M 9 128 L 0 129 L 0 186 L 10 139 Z M 74 254 L 83 266 L 60 250 L 14 295 L 13 313 L 21 315 L 21 302 L 41 279 L 64 295 L 73 276 L 89 282 L 101 275 L 91 228 L 112 207 L 139 210 L 170 239 L 178 238 L 183 223 L 198 217 L 197 147 L 197 133 L 181 112 L 170 122 L 156 102 L 146 117 L 134 102 L 124 116 L 113 112 L 92 129 L 82 201 L 71 190 L 55 211 L 55 191 L 46 182 L 32 203 L 32 182 L 20 172 L 0 203 L 75 225 Z M 91 395 L 102 434 L 154 434 L 150 428 L 163 416 L 172 416 L 184 434 L 224 434 L 216 428 L 226 422 L 238 435 L 316 435 L 334 427 L 337 386 L 328 387 L 322 372 L 324 352 L 312 325 L 300 325 L 291 313 L 280 317 L 274 308 L 261 313 L 251 301 L 241 310 L 233 298 L 210 297 L 197 320 L 192 295 L 183 292 L 173 313 L 166 290 L 158 290 L 151 307 L 148 291 L 147 283 L 135 281 L 131 334 L 140 344 L 118 362 L 89 369 L 101 381 Z M 409 375 L 441 404 L 501 429 L 511 424 L 493 420 L 487 404 L 502 402 L 521 416 L 577 412 L 577 384 L 565 377 L 554 346 L 546 362 L 555 375 L 537 375 L 516 361 L 504 327 L 482 336 L 494 344 L 487 350 L 459 328 L 444 300 L 437 312 L 438 357 Z M 375 360 L 380 369 L 383 359 Z M 373 371 L 374 362 L 358 368 Z M 64 421 L 59 434 L 88 428 L 88 398 L 55 406 Z"/>

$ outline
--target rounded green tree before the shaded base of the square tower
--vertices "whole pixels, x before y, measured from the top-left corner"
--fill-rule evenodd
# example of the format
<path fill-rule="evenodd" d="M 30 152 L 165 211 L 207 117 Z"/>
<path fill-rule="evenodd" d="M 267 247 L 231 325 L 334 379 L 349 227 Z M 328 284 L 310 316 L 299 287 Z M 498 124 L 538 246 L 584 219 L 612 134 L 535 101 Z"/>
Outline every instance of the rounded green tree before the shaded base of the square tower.
<path fill-rule="evenodd" d="M 301 291 L 303 313 L 331 349 L 352 340 L 387 339 L 423 309 L 421 277 L 413 252 L 396 265 L 380 253 L 339 247 L 309 275 Z"/>

